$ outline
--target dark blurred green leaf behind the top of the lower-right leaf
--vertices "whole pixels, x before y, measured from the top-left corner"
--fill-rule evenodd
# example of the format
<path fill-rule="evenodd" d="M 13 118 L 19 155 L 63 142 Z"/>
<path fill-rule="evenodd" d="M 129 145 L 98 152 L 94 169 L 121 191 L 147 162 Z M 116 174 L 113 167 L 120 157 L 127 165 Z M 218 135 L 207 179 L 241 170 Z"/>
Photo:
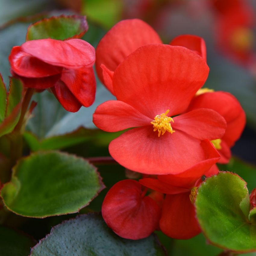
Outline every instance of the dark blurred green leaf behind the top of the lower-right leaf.
<path fill-rule="evenodd" d="M 251 192 L 256 187 L 256 166 L 248 164 L 238 158 L 231 158 L 228 164 L 218 164 L 220 170 L 238 174 L 247 181 L 247 188 Z"/>

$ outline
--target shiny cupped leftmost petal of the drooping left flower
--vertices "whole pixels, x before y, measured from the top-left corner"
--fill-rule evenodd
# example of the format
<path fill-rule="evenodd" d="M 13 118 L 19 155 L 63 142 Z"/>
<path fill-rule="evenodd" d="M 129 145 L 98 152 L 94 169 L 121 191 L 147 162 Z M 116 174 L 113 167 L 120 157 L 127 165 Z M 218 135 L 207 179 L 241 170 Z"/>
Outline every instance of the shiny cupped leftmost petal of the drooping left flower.
<path fill-rule="evenodd" d="M 23 52 L 20 46 L 14 46 L 9 56 L 11 69 L 19 76 L 44 77 L 61 73 L 62 67 L 55 67 Z"/>

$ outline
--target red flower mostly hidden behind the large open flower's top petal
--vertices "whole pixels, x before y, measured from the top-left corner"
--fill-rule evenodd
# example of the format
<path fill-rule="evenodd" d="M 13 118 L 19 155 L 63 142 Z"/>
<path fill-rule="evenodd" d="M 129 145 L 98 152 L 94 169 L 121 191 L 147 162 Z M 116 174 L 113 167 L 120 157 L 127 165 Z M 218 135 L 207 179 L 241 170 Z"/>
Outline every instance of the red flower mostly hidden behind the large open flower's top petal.
<path fill-rule="evenodd" d="M 123 60 L 136 49 L 147 44 L 162 44 L 155 30 L 139 19 L 122 20 L 118 22 L 101 39 L 96 47 L 96 71 L 99 79 L 108 90 L 113 90 L 113 74 Z M 206 61 L 204 40 L 198 36 L 178 36 L 170 45 L 180 45 L 195 51 Z"/>

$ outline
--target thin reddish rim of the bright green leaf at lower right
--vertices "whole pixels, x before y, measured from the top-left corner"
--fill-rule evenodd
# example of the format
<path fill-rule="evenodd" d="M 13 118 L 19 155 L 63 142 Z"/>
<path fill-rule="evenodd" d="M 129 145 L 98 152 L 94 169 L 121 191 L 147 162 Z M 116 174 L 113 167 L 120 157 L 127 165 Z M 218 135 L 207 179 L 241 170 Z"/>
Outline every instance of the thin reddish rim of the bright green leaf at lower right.
<path fill-rule="evenodd" d="M 207 177 L 207 178 L 200 184 L 200 186 L 201 186 L 206 180 L 210 179 L 210 178 L 213 177 L 213 176 L 217 176 L 217 175 L 219 175 L 220 173 L 230 173 L 230 174 L 233 174 L 233 175 L 238 176 L 238 177 L 245 183 L 244 188 L 247 189 L 247 182 L 246 182 L 244 179 L 242 179 L 238 174 L 233 173 L 233 172 L 230 172 L 230 171 L 220 171 L 218 174 L 215 174 L 215 175 L 212 175 L 212 176 L 210 176 L 210 177 Z M 199 187 L 200 187 L 200 186 L 199 186 Z M 199 188 L 199 187 L 198 187 L 198 188 Z M 247 189 L 247 191 L 248 191 L 248 189 Z M 248 195 L 249 195 L 249 192 L 248 192 Z M 196 193 L 196 196 L 197 196 L 197 193 Z M 196 200 L 195 200 L 195 201 L 196 201 Z M 195 206 L 195 203 L 194 203 L 194 206 Z M 195 212 L 197 212 L 196 207 L 195 207 Z M 197 214 L 195 215 L 195 218 L 196 218 L 196 220 L 198 221 Z M 198 222 L 198 224 L 199 224 L 199 222 Z M 200 224 L 199 224 L 199 226 L 200 226 Z M 201 226 L 200 226 L 200 228 L 201 228 Z M 219 245 L 219 244 L 217 244 L 217 243 L 211 242 L 211 240 L 208 238 L 208 236 L 205 234 L 205 232 L 204 232 L 204 230 L 203 230 L 202 228 L 201 228 L 201 231 L 202 231 L 204 237 L 206 238 L 208 244 L 214 245 L 214 246 L 216 246 L 216 247 L 218 247 L 218 248 L 220 248 L 220 249 L 223 249 L 223 250 L 225 250 L 225 251 L 234 252 L 234 253 L 239 253 L 239 254 L 240 254 L 240 253 L 256 252 L 256 249 L 245 250 L 245 251 L 243 251 L 243 250 L 239 250 L 239 251 L 230 250 L 230 248 L 227 248 L 227 247 L 225 247 L 225 246 L 222 246 L 222 245 Z"/>

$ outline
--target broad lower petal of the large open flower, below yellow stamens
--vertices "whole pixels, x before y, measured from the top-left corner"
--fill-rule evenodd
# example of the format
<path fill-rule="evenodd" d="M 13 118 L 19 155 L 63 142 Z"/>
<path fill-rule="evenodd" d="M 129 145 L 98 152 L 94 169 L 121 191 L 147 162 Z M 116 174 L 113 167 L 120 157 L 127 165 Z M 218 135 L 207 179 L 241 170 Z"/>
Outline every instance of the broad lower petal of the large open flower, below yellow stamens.
<path fill-rule="evenodd" d="M 210 146 L 219 156 L 211 143 Z M 166 132 L 158 137 L 158 132 L 154 132 L 150 126 L 126 131 L 110 142 L 109 152 L 124 167 L 146 174 L 182 173 L 207 160 L 212 154 L 205 151 L 201 141 L 186 133 Z M 215 157 L 212 164 L 218 159 Z"/>

